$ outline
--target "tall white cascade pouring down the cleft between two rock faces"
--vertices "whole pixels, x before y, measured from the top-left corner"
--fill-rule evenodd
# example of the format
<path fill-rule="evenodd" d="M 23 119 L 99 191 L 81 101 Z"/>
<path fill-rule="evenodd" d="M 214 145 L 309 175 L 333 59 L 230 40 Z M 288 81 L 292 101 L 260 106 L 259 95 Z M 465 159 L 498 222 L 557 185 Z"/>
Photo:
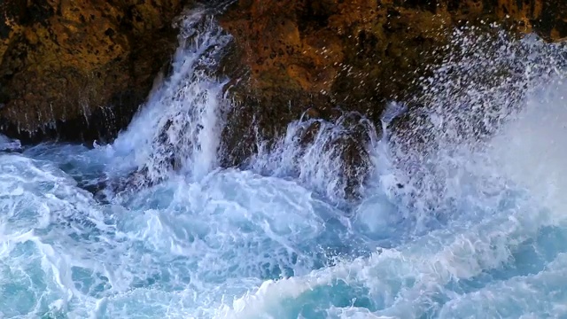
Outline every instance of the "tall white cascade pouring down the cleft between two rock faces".
<path fill-rule="evenodd" d="M 158 183 L 175 171 L 202 178 L 218 165 L 228 103 L 222 98 L 227 80 L 216 77 L 216 67 L 231 36 L 210 13 L 195 10 L 177 22 L 180 45 L 171 75 L 113 144 L 141 173 L 138 183 Z"/>

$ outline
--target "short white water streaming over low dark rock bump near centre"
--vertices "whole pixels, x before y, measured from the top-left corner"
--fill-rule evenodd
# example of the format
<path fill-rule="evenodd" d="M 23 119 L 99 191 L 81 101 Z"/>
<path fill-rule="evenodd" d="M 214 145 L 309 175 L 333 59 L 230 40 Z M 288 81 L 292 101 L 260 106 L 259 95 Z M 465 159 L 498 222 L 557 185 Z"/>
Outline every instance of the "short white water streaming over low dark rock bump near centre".
<path fill-rule="evenodd" d="M 344 203 L 360 195 L 366 182 L 372 139 L 377 139 L 374 125 L 358 113 L 344 113 L 337 121 L 299 119 L 271 147 L 260 137 L 249 168 L 295 178 L 321 196 Z"/>

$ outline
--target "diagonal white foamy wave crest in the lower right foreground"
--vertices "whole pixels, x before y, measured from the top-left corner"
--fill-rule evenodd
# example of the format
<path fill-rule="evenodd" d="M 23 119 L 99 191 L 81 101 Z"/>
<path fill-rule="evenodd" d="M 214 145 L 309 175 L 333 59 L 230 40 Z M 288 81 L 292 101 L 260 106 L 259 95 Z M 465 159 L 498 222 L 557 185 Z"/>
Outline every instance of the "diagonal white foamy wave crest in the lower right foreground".
<path fill-rule="evenodd" d="M 337 281 L 344 281 L 369 289 L 371 300 L 381 304 L 378 307 L 382 310 L 376 315 L 419 317 L 428 307 L 436 307 L 431 301 L 436 295 L 451 296 L 447 284 L 501 268 L 512 261 L 518 245 L 535 237 L 541 227 L 553 224 L 545 213 L 526 211 L 528 208 L 503 211 L 476 225 L 433 231 L 408 245 L 375 253 L 369 259 L 342 262 L 303 277 L 265 282 L 257 291 L 223 308 L 221 316 L 276 317 L 286 313 L 284 305 L 304 300 L 302 295 L 307 292 L 319 287 L 332 291 Z"/>

